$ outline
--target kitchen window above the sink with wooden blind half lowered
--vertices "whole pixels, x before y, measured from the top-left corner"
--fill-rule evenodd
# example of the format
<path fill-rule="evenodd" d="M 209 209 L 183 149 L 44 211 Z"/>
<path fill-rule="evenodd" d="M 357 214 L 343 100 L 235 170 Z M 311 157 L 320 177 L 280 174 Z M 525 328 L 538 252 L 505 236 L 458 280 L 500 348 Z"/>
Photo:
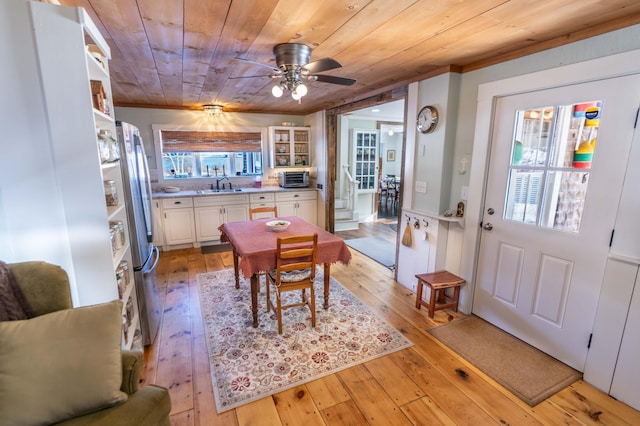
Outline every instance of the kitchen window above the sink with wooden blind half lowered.
<path fill-rule="evenodd" d="M 262 175 L 260 132 L 160 130 L 164 179 Z"/>

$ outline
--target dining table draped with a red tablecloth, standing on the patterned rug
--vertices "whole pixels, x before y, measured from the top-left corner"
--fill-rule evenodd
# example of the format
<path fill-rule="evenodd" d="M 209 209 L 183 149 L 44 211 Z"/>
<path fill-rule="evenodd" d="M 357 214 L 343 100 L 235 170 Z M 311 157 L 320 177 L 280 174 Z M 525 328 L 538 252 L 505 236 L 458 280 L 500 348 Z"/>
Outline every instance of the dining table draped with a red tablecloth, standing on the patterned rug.
<path fill-rule="evenodd" d="M 329 308 L 331 264 L 341 262 L 347 265 L 351 260 L 351 252 L 342 238 L 297 216 L 279 217 L 278 220 L 286 220 L 291 224 L 285 231 L 275 232 L 266 225 L 272 220 L 274 219 L 264 218 L 227 222 L 218 228 L 222 233 L 221 241 L 229 242 L 233 248 L 236 288 L 240 287 L 239 271 L 242 271 L 245 277 L 251 277 L 253 327 L 258 326 L 258 293 L 260 292 L 258 274 L 275 269 L 278 238 L 318 234 L 316 262 L 324 266 L 324 309 Z"/>

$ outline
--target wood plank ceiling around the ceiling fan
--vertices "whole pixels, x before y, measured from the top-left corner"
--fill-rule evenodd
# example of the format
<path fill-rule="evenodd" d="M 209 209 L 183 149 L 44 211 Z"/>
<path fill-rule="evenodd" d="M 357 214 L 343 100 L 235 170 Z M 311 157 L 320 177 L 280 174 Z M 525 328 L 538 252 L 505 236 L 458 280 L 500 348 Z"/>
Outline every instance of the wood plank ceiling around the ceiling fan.
<path fill-rule="evenodd" d="M 117 106 L 308 114 L 447 70 L 466 72 L 640 22 L 638 0 L 59 0 L 82 6 L 111 47 Z M 357 79 L 309 82 L 298 103 L 242 57 L 275 66 L 275 44 Z M 265 72 L 266 71 L 266 72 Z"/>

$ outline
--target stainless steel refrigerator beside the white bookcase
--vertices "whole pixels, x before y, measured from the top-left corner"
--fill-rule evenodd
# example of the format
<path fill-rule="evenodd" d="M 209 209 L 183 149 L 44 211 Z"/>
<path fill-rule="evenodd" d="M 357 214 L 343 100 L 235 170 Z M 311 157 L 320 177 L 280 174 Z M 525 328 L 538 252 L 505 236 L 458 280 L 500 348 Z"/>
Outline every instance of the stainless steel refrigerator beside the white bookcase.
<path fill-rule="evenodd" d="M 124 180 L 129 238 L 140 329 L 144 345 L 150 345 L 158 334 L 161 319 L 160 296 L 156 282 L 156 266 L 160 259 L 153 245 L 153 208 L 151 181 L 144 145 L 137 127 L 116 122 L 120 161 Z"/>

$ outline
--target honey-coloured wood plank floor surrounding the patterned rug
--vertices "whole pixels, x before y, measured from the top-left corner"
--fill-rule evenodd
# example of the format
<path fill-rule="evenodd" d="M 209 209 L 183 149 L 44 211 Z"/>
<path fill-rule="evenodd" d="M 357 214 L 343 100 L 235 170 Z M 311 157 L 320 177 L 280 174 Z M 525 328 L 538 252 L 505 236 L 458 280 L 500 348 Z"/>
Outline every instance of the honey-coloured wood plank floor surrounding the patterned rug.
<path fill-rule="evenodd" d="M 159 337 L 145 351 L 144 383 L 170 389 L 174 425 L 624 425 L 640 413 L 578 381 L 529 407 L 426 330 L 462 316 L 414 307 L 392 272 L 356 251 L 332 275 L 401 330 L 414 346 L 272 397 L 216 413 L 196 275 L 232 268 L 230 252 L 163 252 Z M 248 291 L 248 289 L 247 289 Z"/>

